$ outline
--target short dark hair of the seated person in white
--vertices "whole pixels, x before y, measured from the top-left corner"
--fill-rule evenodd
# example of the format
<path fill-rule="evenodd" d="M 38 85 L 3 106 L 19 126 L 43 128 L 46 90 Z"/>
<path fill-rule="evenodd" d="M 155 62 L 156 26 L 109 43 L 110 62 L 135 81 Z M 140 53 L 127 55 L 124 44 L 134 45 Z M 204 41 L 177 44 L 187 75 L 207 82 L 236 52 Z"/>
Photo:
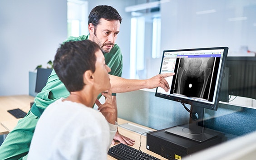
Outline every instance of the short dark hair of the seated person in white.
<path fill-rule="evenodd" d="M 84 87 L 84 72 L 95 72 L 98 44 L 90 41 L 70 41 L 61 44 L 54 57 L 54 70 L 69 92 Z"/>

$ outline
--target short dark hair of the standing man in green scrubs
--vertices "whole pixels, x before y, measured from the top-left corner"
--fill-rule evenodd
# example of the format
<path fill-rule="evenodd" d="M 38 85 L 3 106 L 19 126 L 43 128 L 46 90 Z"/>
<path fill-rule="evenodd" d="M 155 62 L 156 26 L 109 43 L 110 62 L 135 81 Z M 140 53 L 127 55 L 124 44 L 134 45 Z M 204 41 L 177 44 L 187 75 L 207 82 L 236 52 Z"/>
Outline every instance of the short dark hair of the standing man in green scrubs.
<path fill-rule="evenodd" d="M 92 23 L 94 27 L 97 27 L 99 19 L 106 20 L 119 20 L 120 24 L 122 22 L 122 17 L 119 15 L 118 11 L 112 6 L 108 5 L 98 5 L 91 10 L 88 16 L 88 24 Z"/>

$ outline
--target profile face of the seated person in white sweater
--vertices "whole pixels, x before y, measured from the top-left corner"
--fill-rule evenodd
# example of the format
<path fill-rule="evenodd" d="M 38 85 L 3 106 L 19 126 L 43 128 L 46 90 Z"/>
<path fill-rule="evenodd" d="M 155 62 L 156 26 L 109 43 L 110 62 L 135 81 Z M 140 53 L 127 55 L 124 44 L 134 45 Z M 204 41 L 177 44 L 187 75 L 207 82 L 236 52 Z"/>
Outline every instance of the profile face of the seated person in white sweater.
<path fill-rule="evenodd" d="M 103 56 L 103 53 L 98 50 L 96 53 L 96 63 L 95 63 L 95 87 L 98 89 L 99 92 L 103 92 L 108 90 L 110 85 L 110 78 L 108 73 L 111 71 L 111 69 L 106 65 L 105 58 Z"/>

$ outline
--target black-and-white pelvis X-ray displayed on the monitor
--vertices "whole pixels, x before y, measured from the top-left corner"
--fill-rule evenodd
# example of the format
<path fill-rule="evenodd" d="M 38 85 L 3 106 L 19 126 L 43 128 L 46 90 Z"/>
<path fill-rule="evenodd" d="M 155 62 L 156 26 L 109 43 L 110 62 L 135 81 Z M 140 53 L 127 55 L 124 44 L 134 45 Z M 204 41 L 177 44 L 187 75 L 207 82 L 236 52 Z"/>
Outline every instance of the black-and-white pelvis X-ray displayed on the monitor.
<path fill-rule="evenodd" d="M 173 94 L 212 101 L 220 58 L 177 58 L 176 62 Z"/>

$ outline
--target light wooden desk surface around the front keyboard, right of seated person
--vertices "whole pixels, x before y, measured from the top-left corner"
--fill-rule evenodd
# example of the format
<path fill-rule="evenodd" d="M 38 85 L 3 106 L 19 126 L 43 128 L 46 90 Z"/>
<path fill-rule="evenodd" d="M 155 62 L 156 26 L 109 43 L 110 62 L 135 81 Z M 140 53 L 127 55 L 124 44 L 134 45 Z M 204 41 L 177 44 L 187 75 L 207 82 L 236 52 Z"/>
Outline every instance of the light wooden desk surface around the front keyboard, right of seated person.
<path fill-rule="evenodd" d="M 121 125 L 121 124 L 124 124 L 124 123 L 132 123 L 134 125 L 137 125 L 137 126 L 141 126 L 141 127 L 144 127 L 144 128 L 147 128 L 149 130 L 152 130 L 154 131 L 152 128 L 148 128 L 146 126 L 142 126 L 142 125 L 139 125 L 139 124 L 136 124 L 136 123 L 133 123 L 133 122 L 130 122 L 130 121 L 126 121 L 126 120 L 123 120 L 121 118 L 118 118 L 118 124 Z M 147 137 L 142 135 L 141 136 L 141 140 L 140 140 L 140 134 L 139 133 L 136 133 L 134 131 L 130 131 L 130 130 L 127 130 L 123 127 L 118 127 L 118 131 L 120 134 L 122 134 L 123 136 L 127 136 L 133 140 L 135 140 L 135 144 L 132 146 L 133 148 L 135 149 L 139 149 L 139 146 L 140 146 L 140 141 L 141 141 L 141 147 L 140 147 L 140 150 L 149 154 L 149 155 L 152 155 L 154 157 L 157 157 L 158 159 L 160 160 L 167 160 L 166 158 L 163 158 L 161 155 L 158 155 L 150 150 L 147 150 L 146 149 L 146 140 L 147 140 Z M 116 142 L 116 144 L 118 144 L 119 142 Z M 115 144 L 115 145 L 116 145 Z M 111 145 L 113 146 L 113 145 Z M 116 160 L 115 158 L 111 157 L 110 155 L 108 155 L 108 160 Z"/>

